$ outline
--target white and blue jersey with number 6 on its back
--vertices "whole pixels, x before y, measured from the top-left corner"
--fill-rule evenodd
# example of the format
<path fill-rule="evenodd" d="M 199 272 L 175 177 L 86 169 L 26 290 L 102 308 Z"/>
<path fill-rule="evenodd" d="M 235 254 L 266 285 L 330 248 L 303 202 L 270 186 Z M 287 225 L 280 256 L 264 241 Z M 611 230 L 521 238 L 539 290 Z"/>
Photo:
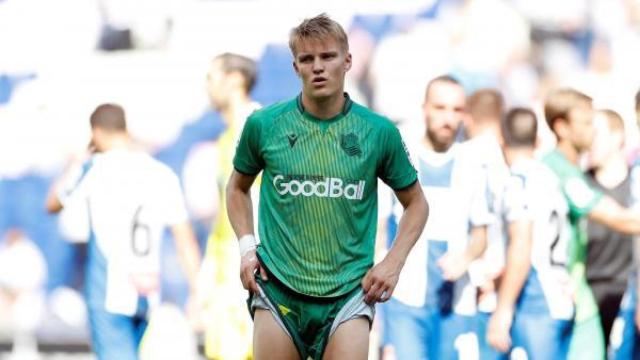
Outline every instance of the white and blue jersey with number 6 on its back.
<path fill-rule="evenodd" d="M 135 314 L 140 296 L 131 278 L 157 276 L 165 227 L 187 221 L 178 177 L 148 154 L 112 150 L 68 177 L 58 198 L 89 218 L 89 307 Z"/>

